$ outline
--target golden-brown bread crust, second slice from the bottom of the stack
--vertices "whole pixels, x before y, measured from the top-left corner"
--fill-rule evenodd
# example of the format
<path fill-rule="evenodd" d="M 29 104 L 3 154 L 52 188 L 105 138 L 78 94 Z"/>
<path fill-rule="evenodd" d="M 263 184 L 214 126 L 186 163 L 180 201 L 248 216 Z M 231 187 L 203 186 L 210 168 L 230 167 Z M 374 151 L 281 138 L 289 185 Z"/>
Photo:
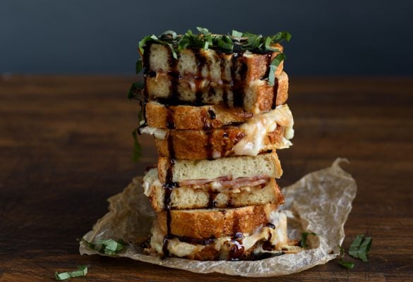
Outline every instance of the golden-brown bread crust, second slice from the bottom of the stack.
<path fill-rule="evenodd" d="M 235 209 L 181 209 L 170 211 L 172 235 L 192 238 L 220 238 L 235 233 L 253 233 L 268 223 L 276 204 L 239 207 Z M 167 232 L 167 212 L 158 212 L 157 220 Z"/>

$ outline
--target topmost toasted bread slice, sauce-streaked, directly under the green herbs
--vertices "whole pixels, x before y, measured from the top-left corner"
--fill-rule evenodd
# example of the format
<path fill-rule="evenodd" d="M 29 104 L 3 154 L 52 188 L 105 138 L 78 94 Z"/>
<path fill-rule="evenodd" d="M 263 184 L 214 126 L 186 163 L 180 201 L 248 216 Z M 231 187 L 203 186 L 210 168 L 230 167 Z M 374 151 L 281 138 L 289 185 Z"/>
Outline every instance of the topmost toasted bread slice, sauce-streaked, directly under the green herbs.
<path fill-rule="evenodd" d="M 274 44 L 278 51 L 256 54 L 251 51 L 225 54 L 213 49 L 184 49 L 174 59 L 169 47 L 151 42 L 145 46 L 143 66 L 145 73 L 172 73 L 181 78 L 208 78 L 220 82 L 233 80 L 253 81 L 268 77 L 270 63 L 282 52 L 282 45 Z M 282 72 L 278 66 L 276 75 Z"/>

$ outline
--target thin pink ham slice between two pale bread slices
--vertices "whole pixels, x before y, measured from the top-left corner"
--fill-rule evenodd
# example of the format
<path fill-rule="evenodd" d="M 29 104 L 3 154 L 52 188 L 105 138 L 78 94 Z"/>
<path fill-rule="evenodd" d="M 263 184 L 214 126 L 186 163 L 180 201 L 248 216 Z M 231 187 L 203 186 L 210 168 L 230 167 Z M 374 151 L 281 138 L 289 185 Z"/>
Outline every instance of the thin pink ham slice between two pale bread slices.
<path fill-rule="evenodd" d="M 239 177 L 232 179 L 231 176 L 223 176 L 215 179 L 196 179 L 196 180 L 184 180 L 179 182 L 179 186 L 210 186 L 210 188 L 241 188 L 241 187 L 253 187 L 257 185 L 263 185 L 268 183 L 270 178 L 268 176 L 253 176 L 253 177 Z"/>

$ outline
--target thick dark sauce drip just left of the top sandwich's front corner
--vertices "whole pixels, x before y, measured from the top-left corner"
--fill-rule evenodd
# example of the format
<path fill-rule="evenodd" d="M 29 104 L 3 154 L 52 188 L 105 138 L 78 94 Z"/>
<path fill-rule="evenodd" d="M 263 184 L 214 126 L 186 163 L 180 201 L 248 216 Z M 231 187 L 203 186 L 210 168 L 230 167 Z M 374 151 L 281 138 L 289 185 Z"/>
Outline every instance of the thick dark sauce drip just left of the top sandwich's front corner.
<path fill-rule="evenodd" d="M 246 59 L 242 57 L 242 53 L 236 53 L 232 56 L 232 66 L 231 66 L 231 78 L 232 78 L 232 93 L 234 107 L 244 106 L 244 86 L 246 80 L 246 73 L 248 71 L 248 66 Z M 237 63 L 241 66 L 237 68 Z M 239 73 L 239 79 L 237 79 L 237 71 Z"/>

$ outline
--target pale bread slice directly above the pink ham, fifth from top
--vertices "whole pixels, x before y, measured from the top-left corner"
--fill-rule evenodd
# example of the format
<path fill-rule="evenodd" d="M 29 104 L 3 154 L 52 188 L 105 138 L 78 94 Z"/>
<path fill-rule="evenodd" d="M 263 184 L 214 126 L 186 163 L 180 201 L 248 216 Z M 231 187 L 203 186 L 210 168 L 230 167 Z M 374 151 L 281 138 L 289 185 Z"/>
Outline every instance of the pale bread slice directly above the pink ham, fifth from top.
<path fill-rule="evenodd" d="M 184 180 L 220 177 L 251 178 L 267 176 L 280 178 L 282 168 L 276 152 L 258 154 L 256 157 L 240 156 L 214 159 L 187 160 L 160 157 L 157 162 L 161 183 L 182 183 Z"/>

